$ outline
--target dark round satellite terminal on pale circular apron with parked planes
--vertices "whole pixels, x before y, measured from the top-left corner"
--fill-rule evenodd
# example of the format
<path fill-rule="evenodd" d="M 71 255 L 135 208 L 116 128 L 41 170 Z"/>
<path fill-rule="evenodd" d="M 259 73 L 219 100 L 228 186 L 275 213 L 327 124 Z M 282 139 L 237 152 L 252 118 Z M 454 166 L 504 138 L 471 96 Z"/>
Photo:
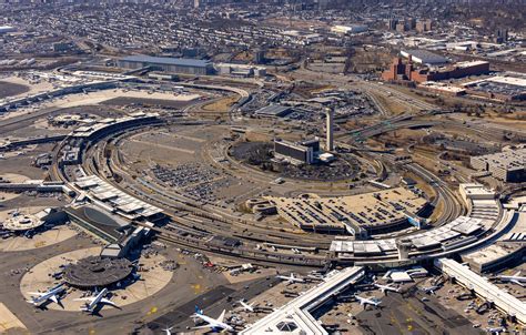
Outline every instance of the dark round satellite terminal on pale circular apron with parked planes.
<path fill-rule="evenodd" d="M 64 270 L 65 282 L 80 288 L 104 287 L 127 278 L 133 265 L 127 258 L 89 256 Z"/>

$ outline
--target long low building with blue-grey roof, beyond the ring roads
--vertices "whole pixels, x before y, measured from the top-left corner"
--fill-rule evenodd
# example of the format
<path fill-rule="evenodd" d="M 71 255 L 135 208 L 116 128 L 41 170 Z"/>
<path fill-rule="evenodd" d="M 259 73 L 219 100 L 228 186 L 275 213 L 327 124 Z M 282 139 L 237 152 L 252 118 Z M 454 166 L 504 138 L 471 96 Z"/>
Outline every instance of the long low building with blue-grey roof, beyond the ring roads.
<path fill-rule="evenodd" d="M 119 68 L 139 70 L 150 67 L 156 71 L 180 74 L 206 75 L 213 74 L 214 68 L 210 61 L 184 58 L 129 55 L 118 60 Z"/>

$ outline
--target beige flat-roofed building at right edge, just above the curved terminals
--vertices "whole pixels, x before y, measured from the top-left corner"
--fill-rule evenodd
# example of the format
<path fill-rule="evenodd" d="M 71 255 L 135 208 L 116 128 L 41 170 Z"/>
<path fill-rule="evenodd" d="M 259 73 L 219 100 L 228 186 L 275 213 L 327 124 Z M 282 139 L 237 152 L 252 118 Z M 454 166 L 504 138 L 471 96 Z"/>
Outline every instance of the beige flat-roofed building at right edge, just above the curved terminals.
<path fill-rule="evenodd" d="M 510 149 L 471 159 L 473 169 L 487 171 L 504 182 L 526 181 L 526 149 Z"/>

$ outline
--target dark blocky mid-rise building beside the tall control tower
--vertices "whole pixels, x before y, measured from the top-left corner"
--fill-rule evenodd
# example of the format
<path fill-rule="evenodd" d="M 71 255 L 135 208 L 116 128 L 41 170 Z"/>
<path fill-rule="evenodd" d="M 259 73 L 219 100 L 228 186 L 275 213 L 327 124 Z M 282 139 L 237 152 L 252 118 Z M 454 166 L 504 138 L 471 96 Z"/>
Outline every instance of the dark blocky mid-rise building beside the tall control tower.
<path fill-rule="evenodd" d="M 318 153 L 320 139 L 317 138 L 302 142 L 274 140 L 274 156 L 293 164 L 312 164 Z"/>

